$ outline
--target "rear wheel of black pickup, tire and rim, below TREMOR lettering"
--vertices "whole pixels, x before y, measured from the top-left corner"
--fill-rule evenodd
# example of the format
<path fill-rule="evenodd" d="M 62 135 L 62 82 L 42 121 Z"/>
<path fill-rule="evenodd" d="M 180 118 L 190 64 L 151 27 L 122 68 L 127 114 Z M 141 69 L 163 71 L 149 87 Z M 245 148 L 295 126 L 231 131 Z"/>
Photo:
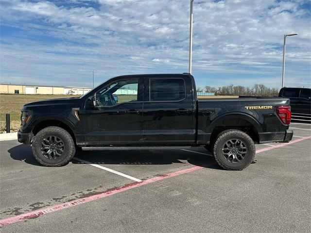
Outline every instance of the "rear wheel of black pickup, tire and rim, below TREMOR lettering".
<path fill-rule="evenodd" d="M 253 161 L 256 149 L 247 133 L 225 130 L 218 134 L 213 153 L 217 163 L 226 170 L 242 170 Z"/>

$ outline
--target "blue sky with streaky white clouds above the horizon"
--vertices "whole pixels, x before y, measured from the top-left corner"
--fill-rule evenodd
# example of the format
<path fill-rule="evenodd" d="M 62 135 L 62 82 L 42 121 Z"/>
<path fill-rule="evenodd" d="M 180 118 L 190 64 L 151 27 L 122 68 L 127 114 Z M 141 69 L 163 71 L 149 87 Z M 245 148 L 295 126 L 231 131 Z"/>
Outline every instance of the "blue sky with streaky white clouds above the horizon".
<path fill-rule="evenodd" d="M 0 0 L 0 81 L 92 86 L 188 72 L 190 0 Z M 198 86 L 311 86 L 309 0 L 194 0 Z"/>

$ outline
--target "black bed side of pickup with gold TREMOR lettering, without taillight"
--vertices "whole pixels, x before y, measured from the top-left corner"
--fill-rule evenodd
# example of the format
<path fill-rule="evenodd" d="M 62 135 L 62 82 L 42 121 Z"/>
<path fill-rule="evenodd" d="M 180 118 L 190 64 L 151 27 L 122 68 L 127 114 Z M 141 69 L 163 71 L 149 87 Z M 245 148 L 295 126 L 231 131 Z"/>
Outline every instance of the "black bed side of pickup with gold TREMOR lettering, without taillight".
<path fill-rule="evenodd" d="M 197 100 L 198 141 L 209 141 L 211 129 L 230 125 L 251 127 L 251 133 L 258 136 L 258 142 L 272 141 L 267 135 L 276 135 L 279 141 L 288 129 L 276 116 L 275 106 L 290 105 L 290 100 L 280 97 L 252 97 Z M 256 132 L 256 133 L 255 133 Z M 280 132 L 280 133 L 278 133 Z M 278 135 L 281 134 L 282 135 Z M 213 136 L 212 136 L 213 137 Z"/>

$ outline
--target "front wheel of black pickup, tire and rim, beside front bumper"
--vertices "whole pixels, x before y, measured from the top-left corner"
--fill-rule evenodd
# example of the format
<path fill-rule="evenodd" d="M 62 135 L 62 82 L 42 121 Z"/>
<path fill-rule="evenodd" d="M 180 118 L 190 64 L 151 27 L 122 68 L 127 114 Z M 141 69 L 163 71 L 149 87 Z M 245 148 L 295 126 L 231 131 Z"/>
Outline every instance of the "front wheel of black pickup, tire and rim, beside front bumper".
<path fill-rule="evenodd" d="M 74 156 L 75 145 L 66 130 L 50 126 L 35 135 L 32 150 L 35 159 L 43 166 L 63 166 Z"/>

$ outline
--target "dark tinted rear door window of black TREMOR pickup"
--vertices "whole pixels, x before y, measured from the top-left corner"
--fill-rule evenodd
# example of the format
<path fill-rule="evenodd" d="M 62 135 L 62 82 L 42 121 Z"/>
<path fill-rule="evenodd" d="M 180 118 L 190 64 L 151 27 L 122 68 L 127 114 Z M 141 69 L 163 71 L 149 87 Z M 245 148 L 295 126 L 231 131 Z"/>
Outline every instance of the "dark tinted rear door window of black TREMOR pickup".
<path fill-rule="evenodd" d="M 150 101 L 178 101 L 186 98 L 183 79 L 150 79 Z"/>

